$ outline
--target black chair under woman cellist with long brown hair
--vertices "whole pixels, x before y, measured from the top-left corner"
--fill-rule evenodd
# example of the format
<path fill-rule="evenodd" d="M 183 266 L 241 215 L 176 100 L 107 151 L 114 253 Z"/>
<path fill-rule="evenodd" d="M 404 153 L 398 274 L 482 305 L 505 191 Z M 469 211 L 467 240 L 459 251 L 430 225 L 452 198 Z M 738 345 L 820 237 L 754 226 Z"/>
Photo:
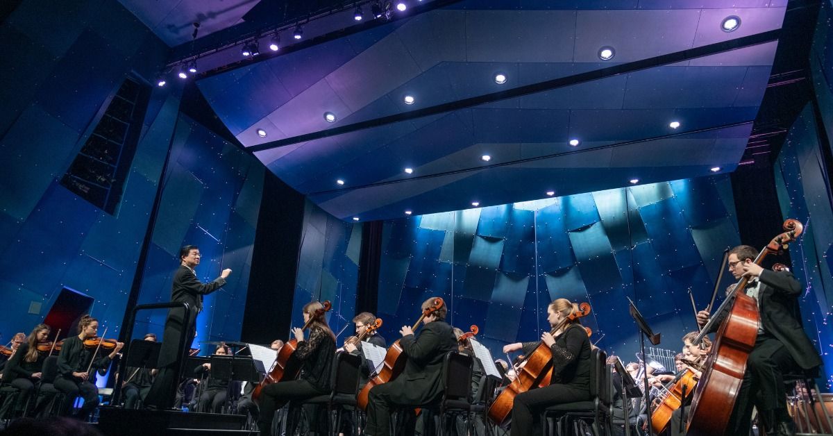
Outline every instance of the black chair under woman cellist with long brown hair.
<path fill-rule="evenodd" d="M 300 405 L 327 407 L 327 433 L 337 435 L 342 428 L 343 413 L 352 413 L 352 423 L 356 424 L 357 407 L 356 396 L 359 393 L 359 379 L 361 377 L 362 358 L 351 353 L 336 353 L 332 364 L 330 385 L 332 392 L 326 395 L 308 398 Z M 349 409 L 348 409 L 349 408 Z M 358 428 L 354 428 L 358 432 Z"/>

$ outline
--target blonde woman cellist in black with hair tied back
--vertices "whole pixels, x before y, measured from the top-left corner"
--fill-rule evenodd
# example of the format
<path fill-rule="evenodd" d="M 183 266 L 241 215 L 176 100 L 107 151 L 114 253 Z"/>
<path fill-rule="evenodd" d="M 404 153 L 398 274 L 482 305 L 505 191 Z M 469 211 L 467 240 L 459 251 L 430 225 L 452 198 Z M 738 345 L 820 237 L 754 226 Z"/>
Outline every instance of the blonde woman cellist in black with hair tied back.
<path fill-rule="evenodd" d="M 578 306 L 570 300 L 558 298 L 547 306 L 546 320 L 555 328 L 578 310 Z M 552 352 L 551 384 L 516 395 L 512 406 L 512 436 L 532 434 L 535 418 L 542 408 L 590 399 L 590 338 L 581 327 L 579 318 L 566 323 L 554 335 L 544 332 L 541 334 L 541 342 Z M 503 352 L 523 349 L 524 354 L 528 355 L 537 346 L 537 342 L 510 343 L 503 348 Z"/>

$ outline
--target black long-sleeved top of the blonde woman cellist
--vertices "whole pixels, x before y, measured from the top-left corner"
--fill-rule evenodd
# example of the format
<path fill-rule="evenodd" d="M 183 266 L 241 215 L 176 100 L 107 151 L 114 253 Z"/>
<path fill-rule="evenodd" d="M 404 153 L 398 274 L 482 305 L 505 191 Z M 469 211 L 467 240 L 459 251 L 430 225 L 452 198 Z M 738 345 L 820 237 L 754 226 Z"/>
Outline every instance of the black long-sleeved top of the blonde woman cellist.
<path fill-rule="evenodd" d="M 540 342 L 523 343 L 524 354 L 529 355 Z M 581 324 L 567 327 L 556 337 L 550 347 L 552 353 L 551 384 L 569 384 L 576 388 L 590 389 L 590 339 Z"/>

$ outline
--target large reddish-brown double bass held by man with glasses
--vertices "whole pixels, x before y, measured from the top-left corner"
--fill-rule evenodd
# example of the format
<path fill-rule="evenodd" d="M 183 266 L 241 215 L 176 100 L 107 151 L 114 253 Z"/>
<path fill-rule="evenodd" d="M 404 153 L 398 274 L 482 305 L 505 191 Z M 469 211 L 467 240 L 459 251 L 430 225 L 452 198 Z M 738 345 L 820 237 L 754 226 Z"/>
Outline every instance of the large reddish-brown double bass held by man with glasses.
<path fill-rule="evenodd" d="M 761 250 L 755 259 L 756 264 L 760 265 L 769 254 L 786 250 L 789 243 L 804 231 L 804 226 L 796 219 L 787 219 L 784 229 L 785 233 L 772 238 Z M 691 341 L 700 343 L 717 320 L 726 316 L 717 330 L 711 346 L 711 356 L 706 361 L 706 368 L 691 401 L 687 431 L 691 436 L 725 433 L 732 409 L 735 408 L 735 400 L 746 372 L 746 358 L 755 348 L 761 318 L 755 298 L 737 292 L 738 289 L 746 288 L 748 281 L 747 277 L 741 278 L 703 326 L 701 333 Z"/>

